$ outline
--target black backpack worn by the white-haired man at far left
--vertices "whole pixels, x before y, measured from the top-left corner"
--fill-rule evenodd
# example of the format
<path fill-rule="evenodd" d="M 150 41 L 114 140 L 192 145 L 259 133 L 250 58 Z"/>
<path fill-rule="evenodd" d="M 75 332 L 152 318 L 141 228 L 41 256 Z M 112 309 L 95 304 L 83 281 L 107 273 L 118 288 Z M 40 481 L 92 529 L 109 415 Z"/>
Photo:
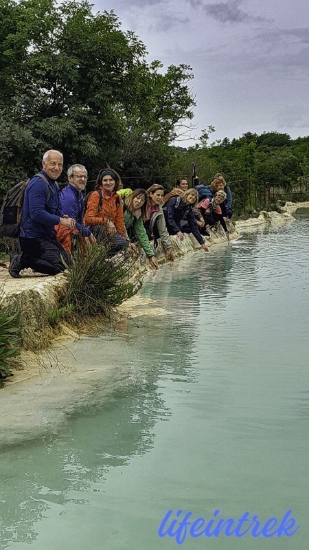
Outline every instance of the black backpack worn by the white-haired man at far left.
<path fill-rule="evenodd" d="M 33 177 L 41 177 L 47 184 L 46 202 L 50 199 L 50 184 L 48 179 L 43 174 L 36 174 Z M 32 177 L 32 179 L 33 179 Z M 18 239 L 21 228 L 21 214 L 23 212 L 23 199 L 25 196 L 25 188 L 30 183 L 31 179 L 24 179 L 19 184 L 14 185 L 8 190 L 0 210 L 0 234 L 10 237 L 10 239 Z"/>

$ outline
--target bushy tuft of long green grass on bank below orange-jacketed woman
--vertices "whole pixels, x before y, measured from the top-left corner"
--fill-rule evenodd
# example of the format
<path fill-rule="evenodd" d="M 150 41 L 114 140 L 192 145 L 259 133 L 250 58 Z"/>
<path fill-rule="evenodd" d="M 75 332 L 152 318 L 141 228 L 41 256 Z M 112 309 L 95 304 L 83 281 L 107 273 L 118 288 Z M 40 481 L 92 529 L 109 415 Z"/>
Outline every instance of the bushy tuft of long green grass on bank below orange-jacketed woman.
<path fill-rule="evenodd" d="M 113 309 L 136 294 L 141 286 L 128 281 L 134 262 L 127 251 L 111 257 L 108 241 L 86 250 L 78 247 L 71 255 L 66 273 L 67 289 L 62 307 L 68 307 L 76 320 L 94 315 L 111 316 Z"/>

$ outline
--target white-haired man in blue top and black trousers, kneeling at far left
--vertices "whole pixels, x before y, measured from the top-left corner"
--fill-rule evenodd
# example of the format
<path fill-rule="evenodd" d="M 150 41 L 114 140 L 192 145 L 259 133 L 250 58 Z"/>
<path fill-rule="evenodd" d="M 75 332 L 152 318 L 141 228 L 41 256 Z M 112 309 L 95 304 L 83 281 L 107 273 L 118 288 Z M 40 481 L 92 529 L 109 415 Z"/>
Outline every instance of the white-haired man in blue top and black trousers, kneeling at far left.
<path fill-rule="evenodd" d="M 62 259 L 66 259 L 66 253 L 56 240 L 54 226 L 60 223 L 73 229 L 75 221 L 60 210 L 56 179 L 62 173 L 62 153 L 46 151 L 42 166 L 41 173 L 30 179 L 25 189 L 19 234 L 21 254 L 14 254 L 9 267 L 14 278 L 20 278 L 19 273 L 26 267 L 46 275 L 65 270 Z"/>

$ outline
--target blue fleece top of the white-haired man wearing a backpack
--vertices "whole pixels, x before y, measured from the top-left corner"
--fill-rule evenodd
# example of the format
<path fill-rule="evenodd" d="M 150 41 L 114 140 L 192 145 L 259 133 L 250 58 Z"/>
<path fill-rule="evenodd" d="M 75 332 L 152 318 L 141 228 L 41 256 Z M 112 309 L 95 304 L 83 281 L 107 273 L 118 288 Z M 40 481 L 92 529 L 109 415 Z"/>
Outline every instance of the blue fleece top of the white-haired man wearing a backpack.
<path fill-rule="evenodd" d="M 64 214 L 60 210 L 59 189 L 56 181 L 49 177 L 44 170 L 41 174 L 45 175 L 49 181 L 50 197 L 47 201 L 47 185 L 41 177 L 33 177 L 25 188 L 23 199 L 23 214 L 21 222 L 20 236 L 25 239 L 34 239 L 45 236 L 52 239 L 54 236 L 54 226 L 59 223 L 59 217 Z"/>

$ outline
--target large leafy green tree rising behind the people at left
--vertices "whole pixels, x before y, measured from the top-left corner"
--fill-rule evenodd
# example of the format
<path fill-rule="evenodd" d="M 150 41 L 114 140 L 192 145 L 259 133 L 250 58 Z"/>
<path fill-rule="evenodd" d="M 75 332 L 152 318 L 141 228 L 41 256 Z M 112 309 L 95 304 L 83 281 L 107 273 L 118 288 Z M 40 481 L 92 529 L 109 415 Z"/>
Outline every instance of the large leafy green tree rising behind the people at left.
<path fill-rule="evenodd" d="M 192 118 L 192 69 L 146 62 L 146 47 L 87 0 L 0 0 L 0 186 L 31 175 L 47 148 L 93 177 L 161 157 Z M 157 153 L 155 153 L 157 151 Z M 159 162 L 159 166 L 161 166 Z"/>

